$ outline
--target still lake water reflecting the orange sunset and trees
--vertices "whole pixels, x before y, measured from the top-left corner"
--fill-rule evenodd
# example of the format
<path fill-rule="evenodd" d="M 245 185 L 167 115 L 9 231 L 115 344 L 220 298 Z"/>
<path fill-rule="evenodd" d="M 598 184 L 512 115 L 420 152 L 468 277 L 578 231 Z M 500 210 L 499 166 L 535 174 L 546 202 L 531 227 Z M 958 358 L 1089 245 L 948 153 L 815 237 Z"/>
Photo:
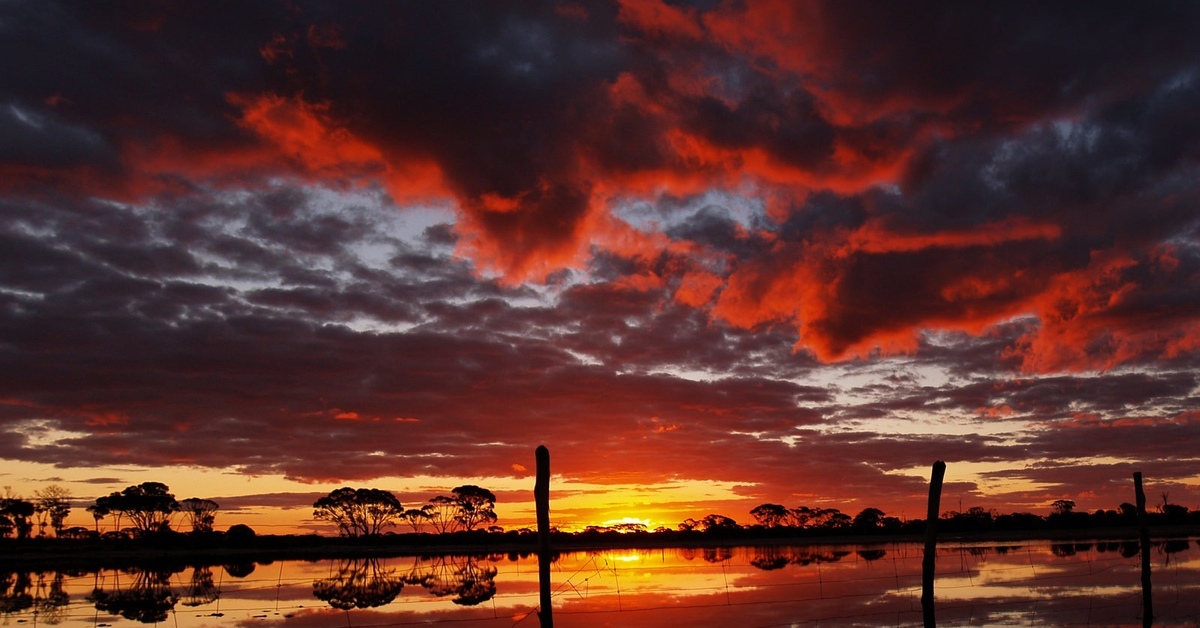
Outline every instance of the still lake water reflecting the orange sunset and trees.
<path fill-rule="evenodd" d="M 938 548 L 938 626 L 1142 626 L 1136 544 Z M 917 544 L 569 552 L 557 628 L 922 626 Z M 1200 626 L 1200 548 L 1156 543 L 1156 626 Z M 0 626 L 536 628 L 535 556 L 276 561 L 22 573 Z"/>

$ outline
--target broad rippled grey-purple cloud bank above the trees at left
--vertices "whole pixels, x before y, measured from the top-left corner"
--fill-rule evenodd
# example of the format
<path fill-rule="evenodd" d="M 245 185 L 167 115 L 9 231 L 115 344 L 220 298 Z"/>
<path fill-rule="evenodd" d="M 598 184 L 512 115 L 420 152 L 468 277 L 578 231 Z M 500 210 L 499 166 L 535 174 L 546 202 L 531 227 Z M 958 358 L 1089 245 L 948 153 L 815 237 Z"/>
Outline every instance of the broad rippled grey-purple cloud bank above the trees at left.
<path fill-rule="evenodd" d="M 270 228 L 254 216 L 266 202 L 256 197 L 175 211 L 10 207 L 20 220 L 5 237 L 26 253 L 8 268 L 28 276 L 20 270 L 32 264 L 62 281 L 12 282 L 19 292 L 5 294 L 0 359 L 22 402 L 5 406 L 19 431 L 4 456 L 112 466 L 132 455 L 302 479 L 505 474 L 528 448 L 514 424 L 563 447 L 625 450 L 636 433 L 786 435 L 821 419 L 800 405 L 828 401 L 821 388 L 757 372 L 769 358 L 756 352 L 803 370 L 786 345 L 712 328 L 695 310 L 655 315 L 658 299 L 602 286 L 566 289 L 556 307 L 514 306 L 535 294 L 480 282 L 444 250 L 361 228 L 386 207 L 294 201 Z M 310 214 L 328 241 L 292 228 Z M 72 227 L 79 215 L 86 228 Z M 366 244 L 385 251 L 354 253 Z M 330 323 L 355 318 L 382 329 Z M 400 323 L 418 327 L 386 330 Z M 701 383 L 662 372 L 674 369 L 743 375 Z M 25 420 L 34 417 L 44 423 Z M 614 430 L 612 441 L 590 433 L 595 421 Z M 55 447 L 30 441 L 53 430 L 71 435 Z M 463 453 L 493 442 L 506 444 Z M 385 455 L 365 455 L 376 450 Z M 647 472 L 685 469 L 688 450 L 654 454 L 661 460 Z"/>

